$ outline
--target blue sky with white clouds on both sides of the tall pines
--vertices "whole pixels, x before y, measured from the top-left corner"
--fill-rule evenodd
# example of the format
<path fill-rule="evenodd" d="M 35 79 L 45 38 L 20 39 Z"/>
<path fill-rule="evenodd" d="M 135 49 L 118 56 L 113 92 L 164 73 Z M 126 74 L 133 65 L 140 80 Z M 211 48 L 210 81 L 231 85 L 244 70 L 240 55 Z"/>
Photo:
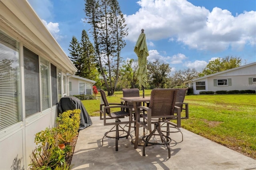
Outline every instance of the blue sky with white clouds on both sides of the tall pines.
<path fill-rule="evenodd" d="M 72 36 L 81 39 L 84 0 L 28 0 L 66 55 Z M 150 55 L 168 63 L 172 73 L 202 71 L 216 57 L 256 61 L 256 0 L 118 0 L 128 36 L 121 55 L 137 56 L 134 46 L 143 28 Z M 91 39 L 92 41 L 92 39 Z M 92 41 L 93 43 L 93 41 Z"/>

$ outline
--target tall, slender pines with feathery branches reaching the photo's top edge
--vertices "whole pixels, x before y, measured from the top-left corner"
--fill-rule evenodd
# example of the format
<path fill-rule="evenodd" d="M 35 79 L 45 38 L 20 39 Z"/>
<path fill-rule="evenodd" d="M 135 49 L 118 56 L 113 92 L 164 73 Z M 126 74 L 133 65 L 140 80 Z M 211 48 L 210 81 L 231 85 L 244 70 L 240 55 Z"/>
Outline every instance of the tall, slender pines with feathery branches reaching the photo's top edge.
<path fill-rule="evenodd" d="M 122 62 L 120 51 L 128 34 L 124 17 L 117 0 L 86 0 L 85 12 L 86 22 L 92 26 L 100 73 L 108 95 L 114 95 Z"/>

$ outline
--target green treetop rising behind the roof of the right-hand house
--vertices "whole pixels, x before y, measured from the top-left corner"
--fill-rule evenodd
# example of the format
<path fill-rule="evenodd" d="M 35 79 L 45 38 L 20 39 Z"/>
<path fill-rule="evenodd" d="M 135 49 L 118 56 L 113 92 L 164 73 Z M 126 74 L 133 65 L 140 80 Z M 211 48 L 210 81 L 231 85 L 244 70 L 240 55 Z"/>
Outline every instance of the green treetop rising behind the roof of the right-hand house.
<path fill-rule="evenodd" d="M 210 61 L 208 65 L 206 65 L 202 73 L 199 73 L 199 77 L 218 73 L 227 69 L 236 68 L 240 66 L 241 61 L 242 60 L 240 59 L 240 57 L 227 56 L 224 58 L 217 58 L 214 61 Z"/>

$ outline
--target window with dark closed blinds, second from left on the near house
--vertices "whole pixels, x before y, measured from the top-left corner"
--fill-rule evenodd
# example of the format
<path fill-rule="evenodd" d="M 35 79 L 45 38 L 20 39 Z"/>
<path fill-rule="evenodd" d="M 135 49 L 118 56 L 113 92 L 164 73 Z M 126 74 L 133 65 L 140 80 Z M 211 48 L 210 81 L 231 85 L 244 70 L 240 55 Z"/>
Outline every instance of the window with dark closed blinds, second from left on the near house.
<path fill-rule="evenodd" d="M 38 55 L 23 47 L 24 89 L 26 117 L 40 112 L 40 86 Z"/>

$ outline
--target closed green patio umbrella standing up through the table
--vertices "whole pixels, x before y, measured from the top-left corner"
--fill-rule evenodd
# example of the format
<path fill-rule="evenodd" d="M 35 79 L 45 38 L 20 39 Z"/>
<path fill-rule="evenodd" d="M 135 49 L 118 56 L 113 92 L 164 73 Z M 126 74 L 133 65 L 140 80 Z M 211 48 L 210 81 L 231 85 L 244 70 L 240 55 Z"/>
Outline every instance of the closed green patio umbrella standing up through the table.
<path fill-rule="evenodd" d="M 135 75 L 139 81 L 139 85 L 142 86 L 143 98 L 144 98 L 144 87 L 146 87 L 147 81 L 148 81 L 147 57 L 149 55 L 148 47 L 146 44 L 146 35 L 144 34 L 144 29 L 141 30 L 141 34 L 134 47 L 134 52 L 138 56 L 138 65 L 139 65 L 139 69 L 135 72 Z"/>

